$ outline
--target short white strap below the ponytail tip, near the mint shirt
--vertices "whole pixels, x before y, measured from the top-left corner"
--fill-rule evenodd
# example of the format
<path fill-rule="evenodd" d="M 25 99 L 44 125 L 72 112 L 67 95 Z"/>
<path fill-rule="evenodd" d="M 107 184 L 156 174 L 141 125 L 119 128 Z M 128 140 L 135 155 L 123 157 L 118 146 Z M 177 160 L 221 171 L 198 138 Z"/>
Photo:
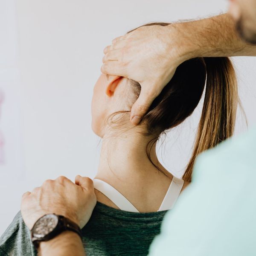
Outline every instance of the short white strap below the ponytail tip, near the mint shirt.
<path fill-rule="evenodd" d="M 158 209 L 158 212 L 169 210 L 174 207 L 174 205 L 180 195 L 180 191 L 183 187 L 183 183 L 184 183 L 184 180 L 181 180 L 181 179 L 173 176 L 172 182 L 169 186 L 169 189 L 167 190 L 165 197 L 163 198 L 163 202 L 162 202 L 160 208 Z"/>

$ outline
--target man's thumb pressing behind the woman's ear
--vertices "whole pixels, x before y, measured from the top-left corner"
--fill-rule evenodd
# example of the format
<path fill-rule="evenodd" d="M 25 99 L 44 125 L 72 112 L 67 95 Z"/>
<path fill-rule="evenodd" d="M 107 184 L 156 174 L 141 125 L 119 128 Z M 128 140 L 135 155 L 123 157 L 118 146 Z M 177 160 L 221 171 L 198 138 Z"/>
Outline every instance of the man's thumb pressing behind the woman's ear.
<path fill-rule="evenodd" d="M 143 87 L 141 87 L 140 96 L 131 108 L 130 121 L 133 125 L 138 125 L 140 123 L 156 97 L 156 93 L 148 92 L 147 90 L 143 90 Z"/>

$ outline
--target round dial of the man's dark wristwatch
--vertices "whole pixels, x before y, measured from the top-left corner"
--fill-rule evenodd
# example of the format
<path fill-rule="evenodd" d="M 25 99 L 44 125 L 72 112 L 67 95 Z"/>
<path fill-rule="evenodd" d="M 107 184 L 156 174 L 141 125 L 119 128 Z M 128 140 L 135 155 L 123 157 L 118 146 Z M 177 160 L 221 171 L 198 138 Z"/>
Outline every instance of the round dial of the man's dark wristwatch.
<path fill-rule="evenodd" d="M 40 218 L 34 225 L 32 231 L 34 237 L 44 237 L 52 232 L 58 224 L 58 216 L 47 214 Z"/>

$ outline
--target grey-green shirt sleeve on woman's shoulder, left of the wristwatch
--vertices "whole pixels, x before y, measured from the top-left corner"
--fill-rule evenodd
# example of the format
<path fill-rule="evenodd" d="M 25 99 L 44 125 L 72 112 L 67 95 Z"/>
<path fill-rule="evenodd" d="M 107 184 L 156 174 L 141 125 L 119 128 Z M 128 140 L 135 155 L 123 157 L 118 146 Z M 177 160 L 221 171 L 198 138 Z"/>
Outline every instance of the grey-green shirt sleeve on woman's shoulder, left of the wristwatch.
<path fill-rule="evenodd" d="M 0 255 L 35 255 L 30 231 L 20 212 L 0 237 Z"/>

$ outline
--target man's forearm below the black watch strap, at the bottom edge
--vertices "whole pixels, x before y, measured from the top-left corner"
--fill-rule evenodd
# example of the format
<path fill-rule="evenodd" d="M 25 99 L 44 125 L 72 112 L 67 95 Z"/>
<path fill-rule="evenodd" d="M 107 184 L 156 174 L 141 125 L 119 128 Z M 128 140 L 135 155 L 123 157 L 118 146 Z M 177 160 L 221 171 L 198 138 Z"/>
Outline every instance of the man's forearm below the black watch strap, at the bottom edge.
<path fill-rule="evenodd" d="M 65 231 L 46 242 L 41 242 L 39 256 L 85 256 L 83 243 L 79 235 Z"/>

